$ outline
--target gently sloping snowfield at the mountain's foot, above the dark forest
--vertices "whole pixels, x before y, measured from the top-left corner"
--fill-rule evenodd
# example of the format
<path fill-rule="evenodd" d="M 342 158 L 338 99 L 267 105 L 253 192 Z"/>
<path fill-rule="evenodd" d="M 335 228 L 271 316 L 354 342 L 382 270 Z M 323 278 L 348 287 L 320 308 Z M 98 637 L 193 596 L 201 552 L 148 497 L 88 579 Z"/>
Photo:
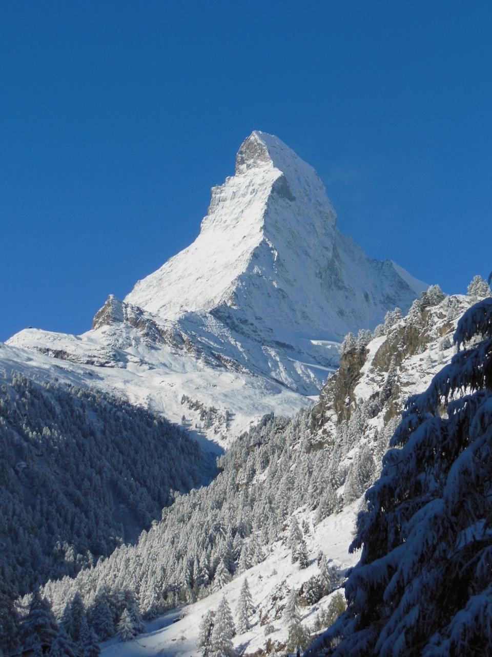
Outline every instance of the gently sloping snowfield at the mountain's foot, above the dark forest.
<path fill-rule="evenodd" d="M 68 336 L 67 348 L 72 348 L 74 340 L 75 336 Z M 45 336 L 43 344 L 49 344 Z M 58 340 L 56 346 L 65 345 Z M 20 371 L 39 381 L 96 388 L 123 397 L 130 403 L 162 413 L 195 436 L 221 447 L 266 413 L 289 417 L 312 403 L 308 397 L 268 378 L 211 369 L 186 353 L 172 353 L 166 346 L 148 350 L 144 357 L 140 357 L 138 348 L 128 350 L 121 357 L 125 357 L 125 367 L 100 367 L 0 343 L 0 371 Z M 182 403 L 183 396 L 191 401 Z M 205 409 L 205 416 L 207 409 L 217 409 L 218 413 L 211 418 L 211 426 L 207 426 L 207 417 L 201 417 L 204 414 L 202 408 L 193 407 L 192 401 L 195 400 Z"/>

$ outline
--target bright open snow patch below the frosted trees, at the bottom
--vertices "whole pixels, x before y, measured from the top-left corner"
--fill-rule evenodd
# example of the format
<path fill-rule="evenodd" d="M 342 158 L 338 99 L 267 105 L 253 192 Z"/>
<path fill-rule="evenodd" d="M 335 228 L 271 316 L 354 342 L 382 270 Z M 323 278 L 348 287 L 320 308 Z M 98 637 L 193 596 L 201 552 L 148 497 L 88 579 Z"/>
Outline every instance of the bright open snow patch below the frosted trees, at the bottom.
<path fill-rule="evenodd" d="M 317 556 L 322 551 L 327 558 L 333 560 L 333 565 L 340 570 L 353 566 L 358 560 L 358 554 L 348 554 L 348 546 L 352 541 L 356 511 L 361 501 L 349 505 L 339 514 L 333 514 L 313 525 L 313 512 L 300 509 L 298 520 L 307 520 L 310 532 L 304 535 L 308 547 L 310 565 L 300 570 L 298 564 L 291 563 L 291 551 L 287 547 L 287 532 L 283 532 L 280 540 L 274 543 L 266 559 L 253 566 L 245 573 L 233 579 L 220 591 L 198 600 L 194 604 L 182 606 L 177 610 L 159 616 L 146 623 L 146 633 L 139 635 L 133 641 L 120 643 L 112 639 L 101 645 L 104 657 L 151 657 L 154 655 L 199 657 L 202 651 L 196 646 L 198 629 L 201 617 L 209 609 L 216 610 L 222 596 L 226 597 L 235 617 L 239 591 L 245 578 L 256 606 L 256 614 L 252 618 L 253 627 L 245 634 L 236 635 L 233 639 L 234 647 L 240 652 L 255 652 L 264 648 L 267 639 L 285 642 L 288 629 L 285 619 L 274 619 L 276 606 L 285 604 L 288 591 L 293 587 L 300 589 L 302 583 L 308 581 L 312 575 L 319 574 Z M 279 599 L 272 601 L 272 594 Z M 324 597 L 314 605 L 300 607 L 301 622 L 312 625 L 318 610 L 329 604 L 331 596 Z M 268 636 L 264 629 L 266 623 L 260 624 L 268 615 L 268 622 L 274 625 L 274 631 Z M 178 620 L 179 619 L 179 620 Z M 236 618 L 235 618 L 236 620 Z"/>

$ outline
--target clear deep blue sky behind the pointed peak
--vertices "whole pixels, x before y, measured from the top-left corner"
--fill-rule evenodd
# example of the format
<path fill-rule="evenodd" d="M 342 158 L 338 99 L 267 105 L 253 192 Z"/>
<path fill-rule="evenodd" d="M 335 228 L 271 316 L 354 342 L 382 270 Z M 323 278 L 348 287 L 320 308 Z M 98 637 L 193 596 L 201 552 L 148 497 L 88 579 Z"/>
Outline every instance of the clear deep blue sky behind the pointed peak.
<path fill-rule="evenodd" d="M 82 332 L 187 246 L 253 129 L 446 292 L 491 254 L 492 3 L 39 1 L 0 16 L 0 340 Z"/>

